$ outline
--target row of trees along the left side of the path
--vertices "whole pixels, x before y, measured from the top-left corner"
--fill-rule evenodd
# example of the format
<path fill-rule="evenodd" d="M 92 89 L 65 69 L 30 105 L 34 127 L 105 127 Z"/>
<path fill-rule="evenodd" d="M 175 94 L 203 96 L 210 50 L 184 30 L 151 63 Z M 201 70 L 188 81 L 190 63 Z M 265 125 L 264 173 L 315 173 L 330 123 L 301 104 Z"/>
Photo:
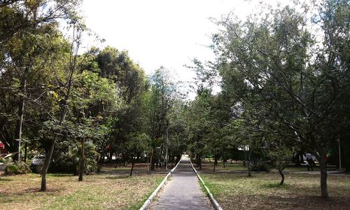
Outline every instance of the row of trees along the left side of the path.
<path fill-rule="evenodd" d="M 112 155 L 132 167 L 146 157 L 154 169 L 166 159 L 167 133 L 169 157 L 183 151 L 174 108 L 182 96 L 169 71 L 147 78 L 127 51 L 111 47 L 78 54 L 83 37 L 94 36 L 79 3 L 0 1 L 0 138 L 17 162 L 45 153 L 42 191 L 50 164 L 82 181 Z"/>

